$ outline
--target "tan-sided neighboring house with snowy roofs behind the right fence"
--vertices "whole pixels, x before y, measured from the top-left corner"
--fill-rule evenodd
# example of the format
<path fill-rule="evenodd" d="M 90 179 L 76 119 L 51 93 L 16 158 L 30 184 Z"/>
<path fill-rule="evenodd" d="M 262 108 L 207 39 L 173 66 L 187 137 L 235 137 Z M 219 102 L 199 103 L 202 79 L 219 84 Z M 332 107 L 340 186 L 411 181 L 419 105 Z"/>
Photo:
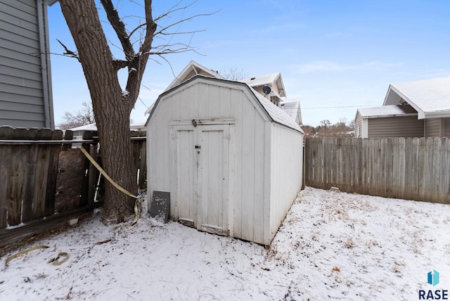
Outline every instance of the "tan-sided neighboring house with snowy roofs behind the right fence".
<path fill-rule="evenodd" d="M 450 137 L 450 77 L 391 84 L 383 106 L 356 111 L 355 136 Z"/>

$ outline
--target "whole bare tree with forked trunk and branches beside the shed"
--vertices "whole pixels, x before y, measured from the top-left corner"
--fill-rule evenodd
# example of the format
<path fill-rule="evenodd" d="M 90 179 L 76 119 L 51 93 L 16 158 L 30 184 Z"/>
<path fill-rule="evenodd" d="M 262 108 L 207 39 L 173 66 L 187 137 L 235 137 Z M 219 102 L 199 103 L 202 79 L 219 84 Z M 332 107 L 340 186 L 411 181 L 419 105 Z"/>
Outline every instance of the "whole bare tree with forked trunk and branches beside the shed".
<path fill-rule="evenodd" d="M 139 89 L 143 72 L 149 56 L 162 57 L 167 53 L 182 53 L 193 51 L 189 44 L 173 42 L 153 47 L 153 39 L 158 34 L 162 37 L 175 34 L 193 34 L 193 32 L 178 32 L 179 24 L 193 20 L 200 15 L 181 18 L 172 24 L 158 27 L 156 21 L 170 18 L 173 13 L 180 13 L 192 6 L 196 1 L 186 6 L 178 4 L 172 6 L 166 13 L 153 19 L 152 0 L 143 0 L 145 22 L 134 29 L 127 30 L 120 18 L 113 0 L 100 0 L 100 4 L 108 18 L 108 22 L 115 31 L 124 53 L 124 59 L 114 59 L 103 27 L 98 18 L 96 1 L 94 0 L 60 0 L 61 11 L 77 51 L 70 51 L 63 43 L 65 55 L 77 58 L 82 64 L 84 77 L 89 87 L 92 99 L 92 108 L 98 128 L 98 139 L 101 144 L 102 162 L 105 171 L 118 184 L 131 193 L 136 193 L 136 174 L 133 170 L 132 147 L 129 138 L 129 116 L 139 96 Z M 130 1 L 134 3 L 134 1 Z M 142 4 L 137 4 L 141 6 Z M 162 21 L 161 21 L 162 22 Z M 162 22 L 164 24 L 164 22 Z M 139 46 L 135 41 L 139 34 Z M 134 37 L 133 37 L 134 36 Z M 59 41 L 59 40 L 58 40 Z M 165 41 L 165 38 L 162 39 Z M 136 49 L 134 49 L 136 46 Z M 118 70 L 128 69 L 128 80 L 122 93 L 117 78 Z M 105 183 L 103 220 L 122 222 L 134 207 L 133 199 Z"/>

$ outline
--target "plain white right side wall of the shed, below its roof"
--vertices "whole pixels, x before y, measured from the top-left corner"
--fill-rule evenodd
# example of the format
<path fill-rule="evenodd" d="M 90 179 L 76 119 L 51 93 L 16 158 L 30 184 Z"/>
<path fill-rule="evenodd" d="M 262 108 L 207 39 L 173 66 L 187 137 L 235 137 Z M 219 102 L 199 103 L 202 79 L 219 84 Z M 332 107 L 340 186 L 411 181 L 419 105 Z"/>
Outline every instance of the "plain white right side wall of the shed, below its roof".
<path fill-rule="evenodd" d="M 270 239 L 302 188 L 303 160 L 301 134 L 278 124 L 272 124 L 271 130 Z"/>

